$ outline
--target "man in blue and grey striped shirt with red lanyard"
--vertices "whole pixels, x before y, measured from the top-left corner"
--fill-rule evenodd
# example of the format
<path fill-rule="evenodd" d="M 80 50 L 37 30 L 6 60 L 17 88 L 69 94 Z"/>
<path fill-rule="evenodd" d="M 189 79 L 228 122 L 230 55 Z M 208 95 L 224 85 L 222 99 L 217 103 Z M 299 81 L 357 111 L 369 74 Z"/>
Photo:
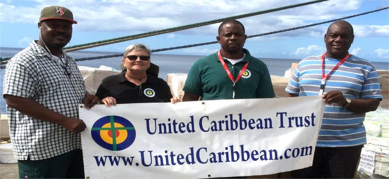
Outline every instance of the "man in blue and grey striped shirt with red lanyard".
<path fill-rule="evenodd" d="M 354 30 L 332 23 L 324 35 L 327 52 L 300 61 L 285 89 L 288 97 L 322 95 L 325 103 L 313 165 L 294 178 L 353 178 L 366 144 L 365 113 L 382 100 L 378 74 L 367 60 L 349 54 Z"/>

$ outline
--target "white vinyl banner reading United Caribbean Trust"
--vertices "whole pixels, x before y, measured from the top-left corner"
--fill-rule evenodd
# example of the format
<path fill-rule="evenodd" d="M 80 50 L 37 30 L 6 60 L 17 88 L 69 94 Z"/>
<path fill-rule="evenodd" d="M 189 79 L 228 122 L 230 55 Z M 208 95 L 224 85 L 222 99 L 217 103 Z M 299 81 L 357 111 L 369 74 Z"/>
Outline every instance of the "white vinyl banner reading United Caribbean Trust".
<path fill-rule="evenodd" d="M 208 178 L 312 165 L 320 96 L 80 105 L 87 178 Z"/>

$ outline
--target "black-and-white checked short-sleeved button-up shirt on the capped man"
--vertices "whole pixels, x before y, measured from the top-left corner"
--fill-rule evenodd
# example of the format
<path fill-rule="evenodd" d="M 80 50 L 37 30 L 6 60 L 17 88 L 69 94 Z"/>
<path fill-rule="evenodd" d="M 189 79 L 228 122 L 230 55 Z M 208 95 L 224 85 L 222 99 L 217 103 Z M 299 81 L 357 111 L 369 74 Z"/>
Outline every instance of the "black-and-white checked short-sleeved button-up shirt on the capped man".
<path fill-rule="evenodd" d="M 78 118 L 85 85 L 73 58 L 61 60 L 32 41 L 7 64 L 3 95 L 30 98 L 67 117 Z M 61 64 L 60 64 L 61 63 Z M 70 73 L 70 74 L 69 74 Z M 41 160 L 81 148 L 80 134 L 57 123 L 29 117 L 7 106 L 15 158 Z"/>

